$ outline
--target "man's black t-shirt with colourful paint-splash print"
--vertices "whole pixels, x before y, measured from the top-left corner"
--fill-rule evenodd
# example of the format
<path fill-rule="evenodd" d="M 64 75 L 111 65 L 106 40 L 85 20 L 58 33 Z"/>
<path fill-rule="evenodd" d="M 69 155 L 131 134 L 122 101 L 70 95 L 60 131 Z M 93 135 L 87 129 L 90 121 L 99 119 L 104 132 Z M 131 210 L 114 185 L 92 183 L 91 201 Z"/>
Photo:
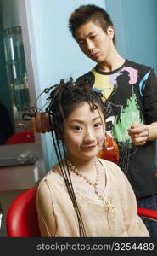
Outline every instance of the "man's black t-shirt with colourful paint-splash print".
<path fill-rule="evenodd" d="M 118 165 L 128 177 L 137 196 L 157 193 L 155 141 L 137 147 L 127 133 L 132 122 L 151 124 L 157 121 L 157 79 L 151 67 L 126 60 L 113 72 L 98 67 L 79 79 L 90 80 L 93 90 L 107 99 L 106 129 L 113 137 L 119 154 Z"/>

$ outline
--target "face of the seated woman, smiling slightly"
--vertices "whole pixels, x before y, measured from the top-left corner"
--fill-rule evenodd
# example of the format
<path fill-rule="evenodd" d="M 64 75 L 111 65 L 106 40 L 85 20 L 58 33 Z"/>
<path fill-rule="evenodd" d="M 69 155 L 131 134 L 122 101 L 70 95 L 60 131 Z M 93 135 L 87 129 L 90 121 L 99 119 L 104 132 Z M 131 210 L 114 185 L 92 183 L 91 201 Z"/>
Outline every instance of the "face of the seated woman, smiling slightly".
<path fill-rule="evenodd" d="M 69 114 L 64 124 L 64 143 L 70 160 L 89 160 L 104 143 L 104 115 L 82 102 Z"/>

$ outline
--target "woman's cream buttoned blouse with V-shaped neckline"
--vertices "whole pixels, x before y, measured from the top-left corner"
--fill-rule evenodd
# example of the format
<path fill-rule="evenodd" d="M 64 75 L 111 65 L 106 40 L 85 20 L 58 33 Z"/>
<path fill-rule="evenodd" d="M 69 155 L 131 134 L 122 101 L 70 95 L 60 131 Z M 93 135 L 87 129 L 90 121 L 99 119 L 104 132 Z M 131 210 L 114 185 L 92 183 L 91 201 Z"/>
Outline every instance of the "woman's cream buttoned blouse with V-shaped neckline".
<path fill-rule="evenodd" d="M 143 221 L 137 216 L 136 198 L 126 176 L 114 163 L 100 161 L 106 177 L 103 199 L 98 198 L 93 186 L 82 177 L 71 174 L 87 236 L 149 236 Z M 76 212 L 59 173 L 51 170 L 42 179 L 36 209 L 42 236 L 80 236 Z"/>

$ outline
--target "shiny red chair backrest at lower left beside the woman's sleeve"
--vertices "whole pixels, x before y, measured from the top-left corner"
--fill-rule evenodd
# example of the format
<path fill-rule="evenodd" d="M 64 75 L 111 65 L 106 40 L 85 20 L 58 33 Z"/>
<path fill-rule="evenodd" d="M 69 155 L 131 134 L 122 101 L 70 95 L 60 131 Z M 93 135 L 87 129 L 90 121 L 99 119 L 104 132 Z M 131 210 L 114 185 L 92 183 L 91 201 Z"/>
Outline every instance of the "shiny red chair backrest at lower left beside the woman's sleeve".
<path fill-rule="evenodd" d="M 6 225 L 8 237 L 41 236 L 36 212 L 37 187 L 22 192 L 8 208 Z"/>

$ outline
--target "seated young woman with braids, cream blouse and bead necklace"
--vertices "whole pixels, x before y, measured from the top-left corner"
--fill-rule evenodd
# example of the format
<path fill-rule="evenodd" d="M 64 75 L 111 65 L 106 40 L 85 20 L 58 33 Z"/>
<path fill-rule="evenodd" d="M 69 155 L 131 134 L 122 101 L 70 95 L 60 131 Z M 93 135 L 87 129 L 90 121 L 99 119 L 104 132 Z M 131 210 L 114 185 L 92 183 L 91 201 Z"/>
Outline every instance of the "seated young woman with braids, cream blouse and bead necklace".
<path fill-rule="evenodd" d="M 79 84 L 78 84 L 79 83 Z M 36 209 L 42 236 L 149 236 L 130 183 L 104 147 L 102 95 L 84 82 L 56 85 L 47 112 L 59 160 L 42 179 Z M 64 158 L 61 151 L 64 151 Z"/>

